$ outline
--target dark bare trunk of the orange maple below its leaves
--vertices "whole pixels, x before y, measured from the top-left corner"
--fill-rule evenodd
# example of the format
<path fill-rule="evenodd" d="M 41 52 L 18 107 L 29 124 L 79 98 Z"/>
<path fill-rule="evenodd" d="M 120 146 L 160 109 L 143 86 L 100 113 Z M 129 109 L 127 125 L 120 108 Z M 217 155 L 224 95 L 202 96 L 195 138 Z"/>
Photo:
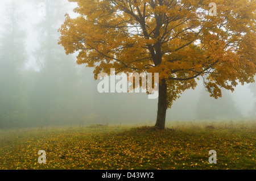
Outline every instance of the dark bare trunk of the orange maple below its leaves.
<path fill-rule="evenodd" d="M 164 129 L 166 124 L 167 110 L 167 85 L 164 79 L 162 80 L 161 83 L 159 83 L 158 115 L 156 117 L 155 127 L 158 127 L 159 129 Z"/>

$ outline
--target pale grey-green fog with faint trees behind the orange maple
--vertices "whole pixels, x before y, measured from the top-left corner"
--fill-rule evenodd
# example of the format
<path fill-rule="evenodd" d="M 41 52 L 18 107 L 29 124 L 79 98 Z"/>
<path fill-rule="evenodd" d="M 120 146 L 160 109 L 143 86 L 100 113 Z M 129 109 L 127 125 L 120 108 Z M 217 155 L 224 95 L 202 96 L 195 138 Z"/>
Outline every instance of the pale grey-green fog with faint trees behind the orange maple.
<path fill-rule="evenodd" d="M 57 44 L 67 0 L 0 1 L 0 129 L 39 125 L 155 122 L 157 99 L 145 93 L 97 91 L 93 69 Z M 214 99 L 202 81 L 167 110 L 166 121 L 256 119 L 256 83 Z"/>

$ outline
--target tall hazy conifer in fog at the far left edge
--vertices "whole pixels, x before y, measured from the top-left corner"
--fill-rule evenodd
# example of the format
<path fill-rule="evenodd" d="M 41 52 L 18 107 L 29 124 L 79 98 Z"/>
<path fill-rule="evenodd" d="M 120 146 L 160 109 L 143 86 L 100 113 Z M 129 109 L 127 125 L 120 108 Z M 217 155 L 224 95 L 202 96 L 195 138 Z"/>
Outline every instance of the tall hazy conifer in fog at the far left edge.
<path fill-rule="evenodd" d="M 27 120 L 27 94 L 22 77 L 27 61 L 24 13 L 20 3 L 6 4 L 6 23 L 0 37 L 0 128 L 13 128 Z"/>

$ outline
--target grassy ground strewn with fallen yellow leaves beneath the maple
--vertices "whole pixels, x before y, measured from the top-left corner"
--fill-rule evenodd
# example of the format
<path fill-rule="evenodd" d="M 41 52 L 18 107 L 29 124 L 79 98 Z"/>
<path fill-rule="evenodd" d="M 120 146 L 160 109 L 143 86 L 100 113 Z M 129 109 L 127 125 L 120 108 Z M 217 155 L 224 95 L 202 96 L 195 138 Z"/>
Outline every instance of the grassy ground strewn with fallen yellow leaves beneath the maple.
<path fill-rule="evenodd" d="M 167 127 L 1 131 L 0 169 L 256 169 L 255 121 Z M 46 164 L 38 163 L 39 150 Z M 209 164 L 209 150 L 216 150 L 216 164 Z"/>

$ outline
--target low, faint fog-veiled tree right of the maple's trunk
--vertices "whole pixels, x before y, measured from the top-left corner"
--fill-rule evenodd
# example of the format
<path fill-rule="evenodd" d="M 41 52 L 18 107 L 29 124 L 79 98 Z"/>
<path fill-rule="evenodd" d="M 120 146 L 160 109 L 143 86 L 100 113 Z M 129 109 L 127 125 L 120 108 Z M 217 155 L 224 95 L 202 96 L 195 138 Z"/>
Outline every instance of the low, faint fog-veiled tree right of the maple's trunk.
<path fill-rule="evenodd" d="M 210 98 L 203 89 L 196 104 L 196 119 L 241 119 L 242 113 L 235 106 L 235 102 L 228 91 L 222 90 L 219 99 Z"/>

